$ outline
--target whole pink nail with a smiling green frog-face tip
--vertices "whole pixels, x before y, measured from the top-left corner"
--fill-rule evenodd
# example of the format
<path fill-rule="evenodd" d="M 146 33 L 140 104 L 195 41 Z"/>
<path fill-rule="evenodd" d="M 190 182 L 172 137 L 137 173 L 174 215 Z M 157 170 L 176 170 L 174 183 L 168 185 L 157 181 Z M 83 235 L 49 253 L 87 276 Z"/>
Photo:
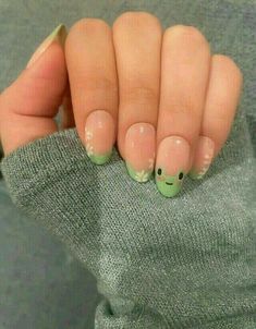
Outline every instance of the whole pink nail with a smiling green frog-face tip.
<path fill-rule="evenodd" d="M 190 166 L 190 144 L 180 136 L 166 137 L 159 144 L 155 176 L 162 195 L 172 197 L 181 191 Z"/>

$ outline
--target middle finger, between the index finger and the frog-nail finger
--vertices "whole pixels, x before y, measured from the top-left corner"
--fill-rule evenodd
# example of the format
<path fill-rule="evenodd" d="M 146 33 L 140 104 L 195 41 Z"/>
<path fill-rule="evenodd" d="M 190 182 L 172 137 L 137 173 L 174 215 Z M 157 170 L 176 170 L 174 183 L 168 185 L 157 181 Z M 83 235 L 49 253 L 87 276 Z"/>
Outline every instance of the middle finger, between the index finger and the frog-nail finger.
<path fill-rule="evenodd" d="M 157 17 L 126 12 L 113 24 L 119 72 L 119 151 L 130 175 L 146 182 L 155 162 L 162 29 Z"/>

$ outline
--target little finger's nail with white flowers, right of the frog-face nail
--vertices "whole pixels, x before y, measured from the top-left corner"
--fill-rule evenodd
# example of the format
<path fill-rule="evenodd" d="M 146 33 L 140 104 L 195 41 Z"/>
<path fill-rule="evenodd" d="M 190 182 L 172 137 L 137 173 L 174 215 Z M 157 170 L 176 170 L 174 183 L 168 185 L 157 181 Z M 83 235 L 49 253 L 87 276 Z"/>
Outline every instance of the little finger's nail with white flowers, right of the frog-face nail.
<path fill-rule="evenodd" d="M 194 180 L 202 179 L 210 167 L 215 154 L 215 142 L 206 136 L 199 136 L 193 166 L 188 176 Z"/>

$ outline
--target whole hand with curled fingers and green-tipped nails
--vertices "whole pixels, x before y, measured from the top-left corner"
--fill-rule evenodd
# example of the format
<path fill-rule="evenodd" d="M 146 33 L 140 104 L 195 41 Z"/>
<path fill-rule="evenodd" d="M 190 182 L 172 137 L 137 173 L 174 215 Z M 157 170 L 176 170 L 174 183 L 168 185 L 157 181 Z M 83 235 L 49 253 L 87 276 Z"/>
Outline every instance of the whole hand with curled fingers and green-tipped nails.
<path fill-rule="evenodd" d="M 146 12 L 126 12 L 112 28 L 83 19 L 66 39 L 59 26 L 1 94 L 3 150 L 58 131 L 63 103 L 62 127 L 76 126 L 93 162 L 105 163 L 117 142 L 130 175 L 146 182 L 155 169 L 158 190 L 171 197 L 220 151 L 241 85 L 234 61 L 212 56 L 193 26 L 163 32 Z"/>

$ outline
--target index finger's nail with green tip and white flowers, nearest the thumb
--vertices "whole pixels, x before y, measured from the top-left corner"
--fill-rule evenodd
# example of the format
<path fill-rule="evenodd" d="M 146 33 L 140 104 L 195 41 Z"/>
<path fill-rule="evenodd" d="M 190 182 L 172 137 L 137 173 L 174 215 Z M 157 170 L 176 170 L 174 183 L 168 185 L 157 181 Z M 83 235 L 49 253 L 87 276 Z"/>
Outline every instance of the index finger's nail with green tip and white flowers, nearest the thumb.
<path fill-rule="evenodd" d="M 88 157 L 96 164 L 106 163 L 112 154 L 114 121 L 105 110 L 92 112 L 85 123 L 85 147 Z"/>

